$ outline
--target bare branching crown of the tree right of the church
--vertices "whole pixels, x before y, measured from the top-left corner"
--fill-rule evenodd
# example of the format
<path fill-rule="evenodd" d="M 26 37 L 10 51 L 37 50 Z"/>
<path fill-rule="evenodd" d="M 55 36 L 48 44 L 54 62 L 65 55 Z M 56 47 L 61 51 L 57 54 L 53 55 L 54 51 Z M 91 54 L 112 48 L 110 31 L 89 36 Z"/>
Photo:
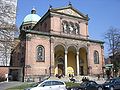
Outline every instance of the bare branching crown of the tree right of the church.
<path fill-rule="evenodd" d="M 109 54 L 114 56 L 120 51 L 120 29 L 110 27 L 108 32 L 105 34 L 105 39 L 109 46 Z"/>

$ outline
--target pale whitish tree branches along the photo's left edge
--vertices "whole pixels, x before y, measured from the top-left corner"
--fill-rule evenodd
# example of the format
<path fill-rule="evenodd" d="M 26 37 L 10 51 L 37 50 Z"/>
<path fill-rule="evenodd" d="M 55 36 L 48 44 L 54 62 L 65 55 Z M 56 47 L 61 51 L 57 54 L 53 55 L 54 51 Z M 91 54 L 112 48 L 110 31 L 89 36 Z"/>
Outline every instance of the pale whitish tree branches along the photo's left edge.
<path fill-rule="evenodd" d="M 0 0 L 0 66 L 8 66 L 14 46 L 17 0 Z"/>

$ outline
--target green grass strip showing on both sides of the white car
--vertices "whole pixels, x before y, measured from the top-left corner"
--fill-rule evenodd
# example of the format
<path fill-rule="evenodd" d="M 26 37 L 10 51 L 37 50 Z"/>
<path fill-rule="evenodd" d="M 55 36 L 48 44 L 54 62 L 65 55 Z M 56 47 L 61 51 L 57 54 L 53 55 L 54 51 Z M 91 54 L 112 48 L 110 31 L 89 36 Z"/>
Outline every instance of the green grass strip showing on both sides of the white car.
<path fill-rule="evenodd" d="M 25 88 L 32 87 L 33 85 L 34 85 L 34 84 L 25 83 L 25 84 L 22 84 L 22 85 L 20 85 L 20 86 L 16 86 L 16 87 L 9 88 L 9 89 L 7 89 L 7 90 L 24 90 Z M 79 86 L 79 85 L 80 85 L 79 83 L 66 82 L 66 86 L 67 86 L 67 87 Z"/>

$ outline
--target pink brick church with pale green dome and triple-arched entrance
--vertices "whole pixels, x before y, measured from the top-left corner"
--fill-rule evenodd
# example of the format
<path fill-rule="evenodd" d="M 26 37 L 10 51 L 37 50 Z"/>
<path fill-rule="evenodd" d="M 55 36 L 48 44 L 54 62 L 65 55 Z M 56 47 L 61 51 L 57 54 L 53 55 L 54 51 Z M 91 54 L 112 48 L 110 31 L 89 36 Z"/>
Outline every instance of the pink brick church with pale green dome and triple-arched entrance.
<path fill-rule="evenodd" d="M 104 42 L 89 39 L 88 21 L 88 15 L 71 4 L 50 7 L 43 17 L 33 9 L 20 27 L 17 57 L 18 66 L 23 67 L 21 76 L 102 74 Z"/>

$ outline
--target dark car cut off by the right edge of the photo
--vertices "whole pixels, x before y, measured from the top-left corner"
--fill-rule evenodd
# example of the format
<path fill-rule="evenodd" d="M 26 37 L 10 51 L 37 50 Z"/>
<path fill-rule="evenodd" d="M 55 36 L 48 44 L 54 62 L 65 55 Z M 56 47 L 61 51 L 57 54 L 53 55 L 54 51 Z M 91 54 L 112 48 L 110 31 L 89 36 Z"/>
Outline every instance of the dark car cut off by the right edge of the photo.
<path fill-rule="evenodd" d="M 120 77 L 107 80 L 103 88 L 104 90 L 120 90 Z"/>

